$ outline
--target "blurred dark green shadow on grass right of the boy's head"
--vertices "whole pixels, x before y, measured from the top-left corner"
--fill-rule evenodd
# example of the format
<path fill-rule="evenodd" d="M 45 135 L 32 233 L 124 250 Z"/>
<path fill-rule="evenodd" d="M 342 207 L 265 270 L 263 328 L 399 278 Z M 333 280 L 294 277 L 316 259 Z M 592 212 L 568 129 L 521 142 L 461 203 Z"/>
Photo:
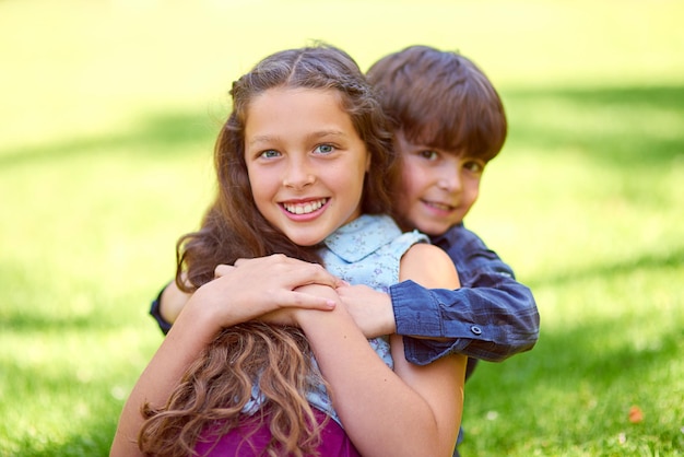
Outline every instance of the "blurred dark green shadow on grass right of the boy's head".
<path fill-rule="evenodd" d="M 509 141 L 582 151 L 611 167 L 659 167 L 684 159 L 684 86 L 523 90 L 503 94 Z"/>

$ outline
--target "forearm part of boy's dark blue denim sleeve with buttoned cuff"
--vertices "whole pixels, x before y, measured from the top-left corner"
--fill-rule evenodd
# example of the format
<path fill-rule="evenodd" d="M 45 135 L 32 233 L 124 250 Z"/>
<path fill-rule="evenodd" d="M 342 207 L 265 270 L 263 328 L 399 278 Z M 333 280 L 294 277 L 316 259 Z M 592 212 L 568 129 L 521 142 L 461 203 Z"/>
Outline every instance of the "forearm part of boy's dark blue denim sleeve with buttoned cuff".
<path fill-rule="evenodd" d="M 418 365 L 450 353 L 500 362 L 529 351 L 539 338 L 534 298 L 515 281 L 507 289 L 455 291 L 428 290 L 404 281 L 392 285 L 390 294 L 406 360 Z"/>

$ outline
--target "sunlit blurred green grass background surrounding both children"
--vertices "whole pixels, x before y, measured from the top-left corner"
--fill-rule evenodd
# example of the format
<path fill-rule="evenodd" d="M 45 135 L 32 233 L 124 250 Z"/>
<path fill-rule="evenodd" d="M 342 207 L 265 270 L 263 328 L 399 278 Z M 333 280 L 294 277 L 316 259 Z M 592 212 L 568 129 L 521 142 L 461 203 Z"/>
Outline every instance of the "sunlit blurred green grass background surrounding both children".
<path fill-rule="evenodd" d="M 226 4 L 0 0 L 0 455 L 107 454 L 162 340 L 148 304 L 212 195 L 229 82 L 308 38 L 364 68 L 459 48 L 504 97 L 468 224 L 542 331 L 468 383 L 462 454 L 682 454 L 680 2 Z"/>

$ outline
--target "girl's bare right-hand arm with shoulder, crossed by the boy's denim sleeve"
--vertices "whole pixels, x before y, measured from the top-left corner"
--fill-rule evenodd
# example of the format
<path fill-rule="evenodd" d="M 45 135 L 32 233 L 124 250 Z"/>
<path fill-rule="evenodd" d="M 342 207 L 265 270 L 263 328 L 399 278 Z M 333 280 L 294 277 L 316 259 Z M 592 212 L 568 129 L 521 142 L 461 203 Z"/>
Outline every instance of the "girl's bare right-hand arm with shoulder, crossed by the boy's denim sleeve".
<path fill-rule="evenodd" d="M 453 263 L 431 245 L 402 258 L 400 279 L 428 288 L 459 286 Z M 406 362 L 401 337 L 391 337 L 392 372 L 377 356 L 344 306 L 330 313 L 294 310 L 314 349 L 344 429 L 361 454 L 451 456 L 463 405 L 467 359 L 429 365 Z"/>

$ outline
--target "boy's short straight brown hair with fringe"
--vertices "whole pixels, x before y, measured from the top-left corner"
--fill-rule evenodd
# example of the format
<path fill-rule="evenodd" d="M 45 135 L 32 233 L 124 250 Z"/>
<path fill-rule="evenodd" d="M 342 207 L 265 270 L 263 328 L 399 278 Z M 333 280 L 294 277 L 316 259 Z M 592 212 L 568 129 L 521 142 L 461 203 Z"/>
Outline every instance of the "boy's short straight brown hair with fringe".
<path fill-rule="evenodd" d="M 410 46 L 378 60 L 367 75 L 394 129 L 406 140 L 486 162 L 504 147 L 502 99 L 468 58 Z"/>

